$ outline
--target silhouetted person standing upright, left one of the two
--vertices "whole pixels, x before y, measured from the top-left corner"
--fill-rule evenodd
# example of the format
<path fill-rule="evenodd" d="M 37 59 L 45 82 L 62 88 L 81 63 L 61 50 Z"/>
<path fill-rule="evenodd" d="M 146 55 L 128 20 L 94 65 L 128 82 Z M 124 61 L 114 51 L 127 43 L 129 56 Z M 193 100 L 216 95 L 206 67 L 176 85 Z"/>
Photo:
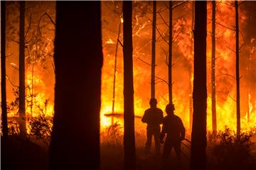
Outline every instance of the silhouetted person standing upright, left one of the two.
<path fill-rule="evenodd" d="M 156 147 L 156 154 L 160 153 L 160 125 L 163 123 L 164 115 L 160 108 L 156 108 L 156 98 L 151 98 L 149 102 L 150 108 L 147 109 L 143 115 L 142 122 L 146 123 L 146 154 L 150 153 L 151 139 L 154 135 L 154 142 Z"/>

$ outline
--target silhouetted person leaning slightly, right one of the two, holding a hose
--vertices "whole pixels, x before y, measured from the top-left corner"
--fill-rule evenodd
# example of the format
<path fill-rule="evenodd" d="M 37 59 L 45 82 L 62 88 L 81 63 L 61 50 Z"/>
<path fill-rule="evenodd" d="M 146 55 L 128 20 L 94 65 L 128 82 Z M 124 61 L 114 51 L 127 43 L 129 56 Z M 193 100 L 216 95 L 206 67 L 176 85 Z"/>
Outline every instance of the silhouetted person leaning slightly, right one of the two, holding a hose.
<path fill-rule="evenodd" d="M 181 161 L 181 140 L 185 137 L 185 128 L 181 118 L 174 115 L 174 105 L 168 104 L 166 106 L 166 117 L 161 130 L 160 142 L 164 143 L 163 159 L 164 162 L 171 154 L 171 149 L 174 147 L 178 161 Z M 165 142 L 164 136 L 167 133 Z"/>

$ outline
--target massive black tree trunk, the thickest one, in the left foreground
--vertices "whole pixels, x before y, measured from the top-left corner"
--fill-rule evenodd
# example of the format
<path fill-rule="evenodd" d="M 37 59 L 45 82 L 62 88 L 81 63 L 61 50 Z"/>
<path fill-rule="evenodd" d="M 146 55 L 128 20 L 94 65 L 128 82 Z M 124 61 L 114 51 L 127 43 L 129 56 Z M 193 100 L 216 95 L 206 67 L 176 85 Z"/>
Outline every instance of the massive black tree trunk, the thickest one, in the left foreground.
<path fill-rule="evenodd" d="M 100 11 L 100 1 L 56 2 L 50 169 L 100 169 Z"/>

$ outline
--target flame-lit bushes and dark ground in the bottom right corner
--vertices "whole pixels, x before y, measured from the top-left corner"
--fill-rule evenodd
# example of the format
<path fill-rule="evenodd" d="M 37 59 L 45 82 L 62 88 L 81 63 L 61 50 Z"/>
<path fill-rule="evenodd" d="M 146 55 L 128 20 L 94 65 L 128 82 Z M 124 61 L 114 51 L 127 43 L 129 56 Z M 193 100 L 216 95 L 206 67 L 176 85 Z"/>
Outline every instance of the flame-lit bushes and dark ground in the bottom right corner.
<path fill-rule="evenodd" d="M 239 136 L 230 128 L 208 135 L 208 169 L 253 169 L 256 146 L 252 142 L 255 129 Z"/>

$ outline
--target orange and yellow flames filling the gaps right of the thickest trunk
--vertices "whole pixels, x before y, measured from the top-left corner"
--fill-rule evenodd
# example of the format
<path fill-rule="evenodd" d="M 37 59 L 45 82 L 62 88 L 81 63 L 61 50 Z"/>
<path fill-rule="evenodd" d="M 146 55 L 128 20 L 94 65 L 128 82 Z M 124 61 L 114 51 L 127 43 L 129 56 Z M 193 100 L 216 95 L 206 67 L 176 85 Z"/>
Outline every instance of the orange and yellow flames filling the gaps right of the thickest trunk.
<path fill-rule="evenodd" d="M 111 3 L 102 4 L 104 9 L 110 8 Z M 146 2 L 143 3 L 145 6 Z M 161 16 L 164 16 L 165 21 L 168 21 L 168 11 L 164 11 L 166 8 L 165 2 L 158 4 L 158 10 L 161 12 Z M 114 6 L 112 4 L 112 6 Z M 142 11 L 143 7 L 141 6 Z M 112 7 L 114 8 L 114 7 Z M 120 8 L 119 4 L 115 8 Z M 181 8 L 185 9 L 181 12 Z M 211 5 L 208 4 L 208 8 Z M 137 10 L 137 9 L 136 9 Z M 149 107 L 149 96 L 150 96 L 150 65 L 147 64 L 150 61 L 151 46 L 151 13 L 146 13 L 142 16 L 138 9 L 134 10 L 134 98 L 135 98 L 135 114 L 143 115 L 144 110 Z M 191 40 L 192 29 L 191 29 L 191 3 L 187 3 L 184 6 L 180 6 L 174 11 L 174 29 L 178 33 L 175 44 L 174 44 L 174 104 L 176 106 L 176 114 L 181 115 L 186 128 L 189 129 L 189 97 L 191 95 L 191 88 L 193 83 L 193 40 Z M 103 10 L 102 21 L 107 20 L 107 16 L 115 15 L 118 18 L 117 13 L 111 13 L 111 11 Z M 106 14 L 105 14 L 106 13 Z M 245 12 L 240 10 L 240 30 L 241 35 L 245 36 L 247 26 L 247 17 Z M 211 125 L 211 97 L 210 97 L 210 57 L 211 57 L 211 11 L 208 12 L 208 38 L 207 38 L 207 65 L 208 65 L 208 130 L 212 129 Z M 156 35 L 159 41 L 156 43 L 159 47 L 156 50 L 156 77 L 160 77 L 167 81 L 168 69 L 165 64 L 167 46 L 166 42 L 161 38 L 161 36 L 166 36 L 168 27 L 160 16 L 157 16 L 157 27 L 161 34 Z M 115 22 L 118 23 L 118 22 Z M 236 102 L 235 102 L 235 8 L 233 6 L 228 6 L 224 2 L 220 2 L 217 7 L 216 12 L 216 97 L 217 97 L 217 121 L 218 130 L 224 130 L 225 126 L 235 130 L 236 127 Z M 105 28 L 106 26 L 106 28 Z M 107 24 L 103 23 L 103 41 L 104 45 L 104 55 L 105 62 L 102 69 L 102 115 L 105 113 L 111 113 L 112 111 L 112 69 L 114 69 L 114 47 L 115 37 L 117 37 L 117 24 Z M 105 28 L 105 29 L 104 29 Z M 112 30 L 113 33 L 110 33 Z M 241 45 L 245 45 L 245 40 L 240 37 Z M 165 37 L 164 37 L 165 38 Z M 111 40 L 110 43 L 109 40 Z M 240 45 L 240 46 L 241 46 Z M 255 44 L 251 43 L 246 45 L 246 47 L 241 48 L 242 60 L 246 59 L 246 49 L 251 50 L 255 48 Z M 243 59 L 244 58 L 244 59 Z M 142 62 L 142 60 L 144 62 Z M 255 52 L 251 53 L 251 62 L 255 62 Z M 147 62 L 145 64 L 145 62 Z M 117 113 L 123 113 L 123 72 L 122 72 L 122 47 L 119 47 L 119 53 L 117 56 L 117 83 L 116 83 L 116 98 L 115 100 L 115 111 Z M 256 125 L 256 106 L 255 106 L 255 75 L 253 70 L 248 71 L 247 66 L 244 62 L 241 63 L 241 102 L 242 102 L 242 116 L 241 116 L 241 128 L 242 130 L 250 130 L 250 128 L 255 128 Z M 182 77 L 182 78 L 181 78 Z M 156 78 L 158 79 L 158 78 Z M 191 79 L 191 81 L 190 81 Z M 168 101 L 168 89 L 166 83 L 161 79 L 156 84 L 156 98 L 159 101 L 159 108 L 165 108 Z M 249 85 L 250 84 L 250 85 Z M 247 94 L 247 89 L 250 89 L 250 93 L 253 94 L 253 98 L 249 97 L 251 94 Z M 247 98 L 250 98 L 249 101 Z M 247 104 L 249 103 L 249 104 Z M 250 107 L 250 108 L 248 108 Z M 249 111 L 249 113 L 248 113 Z M 250 115 L 250 120 L 248 120 L 247 115 Z M 107 121 L 108 119 L 108 121 Z M 111 118 L 104 118 L 102 116 L 102 125 L 110 125 Z"/>

